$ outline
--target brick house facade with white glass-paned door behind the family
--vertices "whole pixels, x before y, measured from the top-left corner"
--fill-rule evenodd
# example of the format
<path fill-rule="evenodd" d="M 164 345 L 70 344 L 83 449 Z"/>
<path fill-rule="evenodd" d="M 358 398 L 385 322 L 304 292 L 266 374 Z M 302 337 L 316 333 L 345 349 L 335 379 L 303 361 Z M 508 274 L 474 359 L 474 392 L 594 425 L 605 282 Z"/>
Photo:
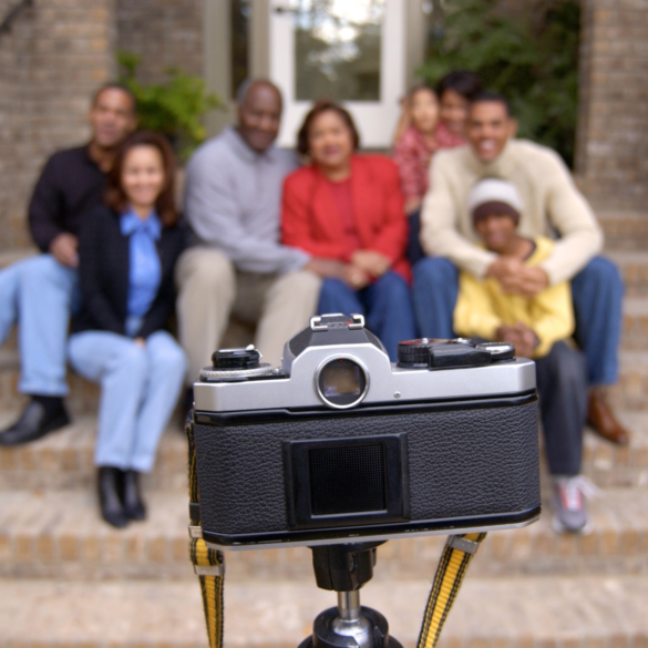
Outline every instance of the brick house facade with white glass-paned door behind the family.
<path fill-rule="evenodd" d="M 269 76 L 286 96 L 284 145 L 309 100 L 333 94 L 351 105 L 366 145 L 381 148 L 423 60 L 432 6 L 0 0 L 0 251 L 29 246 L 25 205 L 39 169 L 88 136 L 89 96 L 114 79 L 119 50 L 140 54 L 144 80 L 175 66 L 229 103 L 247 75 Z M 647 43 L 648 0 L 583 0 L 576 176 L 603 209 L 641 210 L 648 198 Z M 210 115 L 209 132 L 230 119 Z"/>

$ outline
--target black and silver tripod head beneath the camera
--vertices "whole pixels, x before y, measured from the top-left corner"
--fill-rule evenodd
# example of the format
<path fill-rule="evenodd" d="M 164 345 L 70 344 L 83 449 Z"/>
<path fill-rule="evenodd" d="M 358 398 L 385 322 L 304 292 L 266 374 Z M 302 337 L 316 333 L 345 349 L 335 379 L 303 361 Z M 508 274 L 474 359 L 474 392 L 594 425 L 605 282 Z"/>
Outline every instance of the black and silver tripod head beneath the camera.
<path fill-rule="evenodd" d="M 337 592 L 338 606 L 316 617 L 312 635 L 299 648 L 402 648 L 389 636 L 387 619 L 360 606 L 360 587 L 373 577 L 376 547 L 381 544 L 311 547 L 317 586 Z"/>

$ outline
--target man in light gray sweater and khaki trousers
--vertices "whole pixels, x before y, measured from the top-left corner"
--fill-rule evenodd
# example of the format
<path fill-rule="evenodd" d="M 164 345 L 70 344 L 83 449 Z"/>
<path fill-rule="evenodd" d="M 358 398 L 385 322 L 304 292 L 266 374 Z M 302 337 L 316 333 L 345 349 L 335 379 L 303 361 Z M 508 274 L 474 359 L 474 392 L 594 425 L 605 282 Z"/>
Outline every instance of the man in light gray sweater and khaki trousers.
<path fill-rule="evenodd" d="M 179 339 L 188 383 L 209 364 L 230 313 L 257 323 L 264 361 L 315 315 L 320 279 L 310 257 L 280 245 L 284 178 L 295 155 L 276 148 L 281 94 L 250 80 L 237 96 L 237 125 L 203 144 L 187 165 L 185 216 L 194 234 L 176 268 Z"/>

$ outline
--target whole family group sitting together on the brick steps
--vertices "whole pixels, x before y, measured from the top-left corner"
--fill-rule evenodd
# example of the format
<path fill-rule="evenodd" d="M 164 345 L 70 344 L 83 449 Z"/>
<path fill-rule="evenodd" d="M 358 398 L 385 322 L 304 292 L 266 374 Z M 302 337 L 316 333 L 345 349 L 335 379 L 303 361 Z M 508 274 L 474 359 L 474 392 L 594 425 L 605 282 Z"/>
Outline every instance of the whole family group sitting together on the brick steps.
<path fill-rule="evenodd" d="M 119 84 L 92 100 L 90 143 L 47 162 L 29 206 L 41 254 L 0 271 L 0 338 L 18 323 L 30 397 L 0 445 L 70 422 L 69 362 L 101 384 L 100 505 L 123 527 L 145 517 L 140 475 L 230 316 L 278 366 L 311 316 L 362 313 L 392 361 L 399 341 L 457 336 L 536 360 L 554 524 L 586 529 L 586 422 L 628 442 L 606 400 L 623 284 L 559 156 L 516 138 L 506 99 L 470 72 L 408 94 L 391 155 L 359 153 L 328 100 L 280 150 L 279 90 L 248 80 L 236 99 L 236 123 L 186 166 L 182 217 L 173 151 L 136 130 Z"/>

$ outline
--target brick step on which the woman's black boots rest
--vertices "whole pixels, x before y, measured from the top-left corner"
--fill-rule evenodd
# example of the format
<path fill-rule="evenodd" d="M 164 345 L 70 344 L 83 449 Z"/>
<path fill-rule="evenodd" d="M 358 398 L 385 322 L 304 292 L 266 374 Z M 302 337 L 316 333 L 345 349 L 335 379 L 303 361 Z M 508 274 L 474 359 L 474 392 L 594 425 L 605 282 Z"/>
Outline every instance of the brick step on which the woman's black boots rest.
<path fill-rule="evenodd" d="M 100 520 L 94 492 L 0 493 L 0 577 L 182 579 L 187 555 L 187 496 L 152 492 L 150 518 L 126 529 Z M 648 490 L 616 488 L 589 504 L 589 535 L 557 535 L 551 508 L 528 527 L 493 532 L 475 576 L 518 574 L 648 575 Z M 391 541 L 378 552 L 377 579 L 433 574 L 443 536 Z M 228 552 L 236 580 L 311 578 L 310 551 Z"/>

